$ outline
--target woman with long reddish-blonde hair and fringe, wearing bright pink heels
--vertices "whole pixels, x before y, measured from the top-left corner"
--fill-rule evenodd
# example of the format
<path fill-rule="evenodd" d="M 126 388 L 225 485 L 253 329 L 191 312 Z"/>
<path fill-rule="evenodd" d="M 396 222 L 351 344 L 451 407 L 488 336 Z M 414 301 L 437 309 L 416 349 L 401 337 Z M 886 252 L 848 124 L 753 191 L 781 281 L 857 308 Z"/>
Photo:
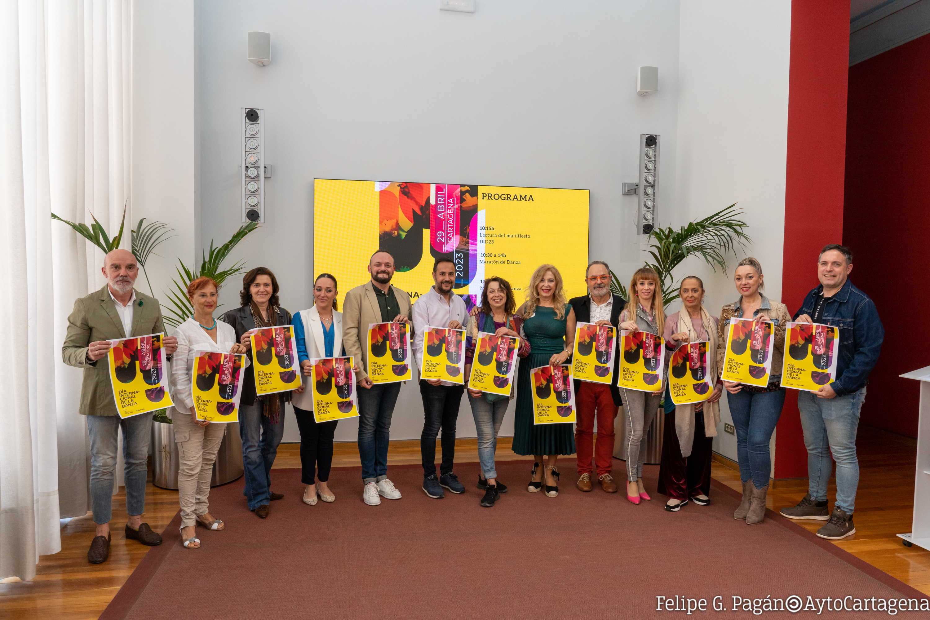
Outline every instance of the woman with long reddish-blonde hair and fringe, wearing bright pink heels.
<path fill-rule="evenodd" d="M 628 290 L 630 301 L 620 313 L 620 329 L 661 336 L 665 332 L 665 305 L 658 273 L 648 267 L 636 270 Z M 627 414 L 627 499 L 633 504 L 639 504 L 640 499 L 652 499 L 645 492 L 643 484 L 644 455 L 640 443 L 645 430 L 656 418 L 662 390 L 650 393 L 620 388 L 620 392 Z"/>

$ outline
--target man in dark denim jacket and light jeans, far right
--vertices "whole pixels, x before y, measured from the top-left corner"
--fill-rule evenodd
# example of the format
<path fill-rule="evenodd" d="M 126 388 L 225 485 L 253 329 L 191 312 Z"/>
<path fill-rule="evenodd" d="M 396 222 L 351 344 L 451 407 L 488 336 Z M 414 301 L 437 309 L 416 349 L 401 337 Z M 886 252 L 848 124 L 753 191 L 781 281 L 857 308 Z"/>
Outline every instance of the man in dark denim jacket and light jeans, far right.
<path fill-rule="evenodd" d="M 821 538 L 839 540 L 856 533 L 853 509 L 859 483 L 856 431 L 866 398 L 869 373 L 882 350 L 884 328 L 875 304 L 849 281 L 853 253 L 843 245 L 824 246 L 817 260 L 820 285 L 804 297 L 794 313 L 798 323 L 839 328 L 836 380 L 817 392 L 798 393 L 804 445 L 807 447 L 808 492 L 797 506 L 783 508 L 789 519 L 829 521 L 817 530 Z M 830 453 L 836 460 L 836 506 L 827 507 Z"/>

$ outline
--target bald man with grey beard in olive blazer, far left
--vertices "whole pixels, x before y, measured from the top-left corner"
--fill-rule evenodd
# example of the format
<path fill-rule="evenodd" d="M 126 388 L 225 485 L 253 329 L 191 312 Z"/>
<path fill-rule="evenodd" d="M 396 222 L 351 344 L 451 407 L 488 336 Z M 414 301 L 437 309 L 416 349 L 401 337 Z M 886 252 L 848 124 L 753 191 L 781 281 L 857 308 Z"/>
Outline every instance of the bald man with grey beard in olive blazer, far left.
<path fill-rule="evenodd" d="M 142 522 L 145 509 L 145 481 L 148 478 L 149 442 L 152 416 L 121 419 L 113 401 L 107 351 L 110 340 L 145 336 L 165 331 L 158 300 L 133 288 L 139 267 L 128 250 L 113 250 L 104 257 L 103 275 L 107 285 L 74 301 L 68 317 L 68 333 L 61 347 L 64 363 L 84 369 L 81 405 L 90 434 L 90 501 L 97 523 L 97 534 L 87 551 L 87 561 L 99 564 L 110 555 L 110 519 L 113 506 L 113 471 L 116 468 L 117 432 L 123 429 L 126 457 L 126 538 L 143 545 L 160 545 L 162 537 Z M 165 352 L 178 349 L 178 340 L 167 336 Z"/>

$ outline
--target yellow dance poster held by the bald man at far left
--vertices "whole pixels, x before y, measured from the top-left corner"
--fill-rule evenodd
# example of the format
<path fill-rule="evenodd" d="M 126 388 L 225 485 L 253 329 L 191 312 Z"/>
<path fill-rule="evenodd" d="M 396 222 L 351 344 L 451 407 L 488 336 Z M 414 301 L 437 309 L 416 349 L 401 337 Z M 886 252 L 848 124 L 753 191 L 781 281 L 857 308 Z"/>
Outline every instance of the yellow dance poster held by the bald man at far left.
<path fill-rule="evenodd" d="M 120 417 L 139 416 L 174 404 L 168 394 L 165 334 L 110 341 L 107 362 Z"/>

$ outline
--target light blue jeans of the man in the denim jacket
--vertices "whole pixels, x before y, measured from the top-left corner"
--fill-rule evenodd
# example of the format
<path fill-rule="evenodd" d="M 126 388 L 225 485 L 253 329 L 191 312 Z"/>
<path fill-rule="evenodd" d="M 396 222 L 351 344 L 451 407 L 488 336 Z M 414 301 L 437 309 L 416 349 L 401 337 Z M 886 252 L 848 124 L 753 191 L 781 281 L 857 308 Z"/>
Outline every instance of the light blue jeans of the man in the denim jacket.
<path fill-rule="evenodd" d="M 836 398 L 817 398 L 814 394 L 798 393 L 801 428 L 807 448 L 808 491 L 811 499 L 827 499 L 827 484 L 836 461 L 836 506 L 846 514 L 856 508 L 859 485 L 859 461 L 856 455 L 856 431 L 859 411 L 866 400 L 866 389 Z"/>

